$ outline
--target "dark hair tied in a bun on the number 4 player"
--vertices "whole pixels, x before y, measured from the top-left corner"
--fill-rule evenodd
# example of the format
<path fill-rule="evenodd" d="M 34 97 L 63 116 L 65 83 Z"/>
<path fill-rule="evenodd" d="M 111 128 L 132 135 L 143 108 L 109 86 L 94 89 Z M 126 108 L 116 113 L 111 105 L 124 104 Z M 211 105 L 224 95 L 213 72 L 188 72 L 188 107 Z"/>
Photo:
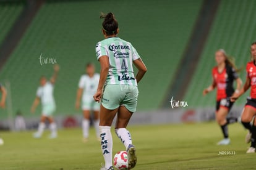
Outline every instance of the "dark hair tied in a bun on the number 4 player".
<path fill-rule="evenodd" d="M 118 22 L 112 12 L 109 12 L 108 14 L 101 14 L 100 18 L 104 18 L 102 26 L 106 31 L 106 34 L 117 34 Z"/>

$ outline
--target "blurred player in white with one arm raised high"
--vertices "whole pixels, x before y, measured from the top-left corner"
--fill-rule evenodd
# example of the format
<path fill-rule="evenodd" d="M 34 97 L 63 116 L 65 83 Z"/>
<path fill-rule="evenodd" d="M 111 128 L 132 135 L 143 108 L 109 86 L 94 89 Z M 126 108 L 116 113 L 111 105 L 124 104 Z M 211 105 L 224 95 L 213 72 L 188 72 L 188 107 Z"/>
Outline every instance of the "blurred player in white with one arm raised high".
<path fill-rule="evenodd" d="M 54 65 L 54 74 L 51 77 L 50 81 L 47 81 L 45 76 L 41 76 L 40 78 L 40 87 L 38 87 L 36 91 L 36 98 L 31 107 L 32 113 L 35 112 L 36 107 L 40 103 L 42 104 L 42 112 L 41 112 L 41 121 L 38 126 L 38 131 L 35 132 L 34 137 L 40 138 L 45 129 L 46 119 L 49 121 L 49 129 L 51 130 L 51 135 L 49 138 L 57 137 L 57 127 L 56 123 L 53 119 L 53 113 L 56 110 L 56 105 L 53 97 L 54 92 L 54 83 L 58 76 L 59 65 Z"/>

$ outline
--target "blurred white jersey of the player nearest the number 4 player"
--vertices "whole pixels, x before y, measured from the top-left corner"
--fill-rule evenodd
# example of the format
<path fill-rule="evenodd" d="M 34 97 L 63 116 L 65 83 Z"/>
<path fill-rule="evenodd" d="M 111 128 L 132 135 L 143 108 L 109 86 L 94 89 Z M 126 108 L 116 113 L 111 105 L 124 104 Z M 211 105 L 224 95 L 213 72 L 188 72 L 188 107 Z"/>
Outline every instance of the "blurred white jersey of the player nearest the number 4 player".
<path fill-rule="evenodd" d="M 95 73 L 92 78 L 88 75 L 82 75 L 79 81 L 79 88 L 83 89 L 82 100 L 93 99 L 93 95 L 97 91 L 100 75 Z"/>

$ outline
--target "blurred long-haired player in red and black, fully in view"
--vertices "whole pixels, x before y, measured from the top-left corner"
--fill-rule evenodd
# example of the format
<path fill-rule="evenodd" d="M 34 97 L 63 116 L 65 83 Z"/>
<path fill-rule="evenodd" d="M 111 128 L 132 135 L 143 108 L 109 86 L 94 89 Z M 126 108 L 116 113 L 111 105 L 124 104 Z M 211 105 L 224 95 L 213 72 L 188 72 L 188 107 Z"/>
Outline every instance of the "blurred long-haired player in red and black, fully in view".
<path fill-rule="evenodd" d="M 242 80 L 237 76 L 236 67 L 228 59 L 226 52 L 223 49 L 216 51 L 215 60 L 217 66 L 212 70 L 213 83 L 203 90 L 203 95 L 213 91 L 217 87 L 217 102 L 216 102 L 216 121 L 221 127 L 224 139 L 218 142 L 218 145 L 228 145 L 230 139 L 228 138 L 228 124 L 237 121 L 237 118 L 226 118 L 233 102 L 229 97 L 239 92 L 242 86 Z M 234 91 L 233 81 L 236 80 L 236 91 Z"/>

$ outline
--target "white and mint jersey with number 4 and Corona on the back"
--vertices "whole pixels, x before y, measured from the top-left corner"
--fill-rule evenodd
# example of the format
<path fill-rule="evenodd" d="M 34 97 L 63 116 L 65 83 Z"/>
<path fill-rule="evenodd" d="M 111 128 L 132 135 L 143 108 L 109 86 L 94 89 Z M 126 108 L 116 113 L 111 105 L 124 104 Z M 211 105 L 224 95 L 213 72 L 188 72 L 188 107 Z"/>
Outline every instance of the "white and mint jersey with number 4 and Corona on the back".
<path fill-rule="evenodd" d="M 107 84 L 128 84 L 137 86 L 132 62 L 140 58 L 130 42 L 118 37 L 104 39 L 96 44 L 96 56 L 109 58 Z"/>

